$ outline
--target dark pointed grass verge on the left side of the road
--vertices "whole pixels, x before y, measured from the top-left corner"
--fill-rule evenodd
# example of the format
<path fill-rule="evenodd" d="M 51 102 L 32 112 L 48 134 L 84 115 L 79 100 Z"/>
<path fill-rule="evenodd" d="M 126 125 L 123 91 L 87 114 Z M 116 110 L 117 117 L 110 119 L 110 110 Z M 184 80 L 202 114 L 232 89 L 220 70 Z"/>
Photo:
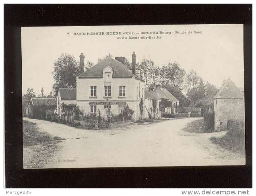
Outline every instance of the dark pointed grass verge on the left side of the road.
<path fill-rule="evenodd" d="M 60 137 L 52 137 L 45 132 L 39 132 L 37 130 L 36 123 L 23 120 L 23 146 L 33 146 L 39 143 L 51 142 L 55 140 L 62 140 Z M 64 138 L 65 139 L 65 138 Z"/>

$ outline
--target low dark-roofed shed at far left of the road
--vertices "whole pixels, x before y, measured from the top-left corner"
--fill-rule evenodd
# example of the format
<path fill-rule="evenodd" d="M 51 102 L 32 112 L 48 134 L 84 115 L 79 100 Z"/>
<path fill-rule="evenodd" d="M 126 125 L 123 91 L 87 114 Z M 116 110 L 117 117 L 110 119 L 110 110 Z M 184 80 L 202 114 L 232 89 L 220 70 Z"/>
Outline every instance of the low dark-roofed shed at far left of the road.
<path fill-rule="evenodd" d="M 56 99 L 53 98 L 35 98 L 31 97 L 27 114 L 30 118 L 41 120 L 50 120 L 56 109 Z"/>

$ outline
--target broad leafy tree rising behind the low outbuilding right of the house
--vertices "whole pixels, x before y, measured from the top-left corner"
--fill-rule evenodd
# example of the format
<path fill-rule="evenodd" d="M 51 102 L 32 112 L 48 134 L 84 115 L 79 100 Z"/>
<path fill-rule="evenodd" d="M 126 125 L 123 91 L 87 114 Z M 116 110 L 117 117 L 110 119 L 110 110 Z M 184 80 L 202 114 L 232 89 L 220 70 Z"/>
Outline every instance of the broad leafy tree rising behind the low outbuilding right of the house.
<path fill-rule="evenodd" d="M 177 62 L 164 65 L 161 70 L 162 85 L 172 85 L 181 90 L 185 75 L 185 70 Z"/>

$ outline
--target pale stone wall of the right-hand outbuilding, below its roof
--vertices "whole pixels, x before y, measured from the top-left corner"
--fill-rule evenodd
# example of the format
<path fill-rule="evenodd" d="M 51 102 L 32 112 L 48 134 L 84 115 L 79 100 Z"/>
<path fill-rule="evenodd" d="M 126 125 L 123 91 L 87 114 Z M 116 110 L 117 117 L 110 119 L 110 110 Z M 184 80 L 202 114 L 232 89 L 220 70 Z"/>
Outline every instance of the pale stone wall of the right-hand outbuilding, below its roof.
<path fill-rule="evenodd" d="M 227 128 L 227 120 L 244 120 L 244 99 L 214 99 L 215 130 Z"/>

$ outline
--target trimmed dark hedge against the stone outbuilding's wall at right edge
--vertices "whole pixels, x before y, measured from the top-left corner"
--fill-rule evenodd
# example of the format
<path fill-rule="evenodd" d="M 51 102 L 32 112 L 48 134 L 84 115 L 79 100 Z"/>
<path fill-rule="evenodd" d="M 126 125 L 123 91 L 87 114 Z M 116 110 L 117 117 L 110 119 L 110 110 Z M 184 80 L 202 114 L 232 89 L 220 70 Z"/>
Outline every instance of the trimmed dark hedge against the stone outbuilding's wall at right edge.
<path fill-rule="evenodd" d="M 238 119 L 227 120 L 227 130 L 231 135 L 245 135 L 244 121 Z"/>

